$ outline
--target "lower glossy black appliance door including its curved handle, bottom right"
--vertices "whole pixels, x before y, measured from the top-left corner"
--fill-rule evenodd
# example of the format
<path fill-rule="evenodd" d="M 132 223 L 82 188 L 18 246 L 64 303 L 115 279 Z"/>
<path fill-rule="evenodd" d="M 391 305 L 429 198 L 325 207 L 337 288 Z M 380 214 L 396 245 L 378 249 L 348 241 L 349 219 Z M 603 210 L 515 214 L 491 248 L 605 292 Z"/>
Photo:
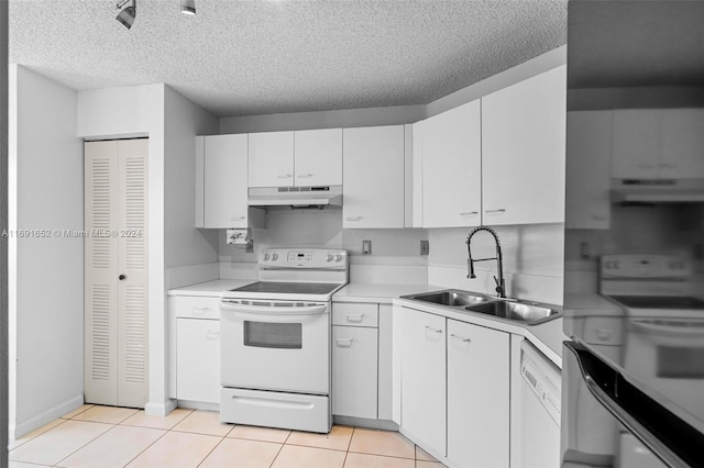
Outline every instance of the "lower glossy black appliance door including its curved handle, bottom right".
<path fill-rule="evenodd" d="M 704 433 L 587 346 L 562 353 L 563 468 L 701 467 Z M 691 422 L 691 421 L 690 421 Z"/>

